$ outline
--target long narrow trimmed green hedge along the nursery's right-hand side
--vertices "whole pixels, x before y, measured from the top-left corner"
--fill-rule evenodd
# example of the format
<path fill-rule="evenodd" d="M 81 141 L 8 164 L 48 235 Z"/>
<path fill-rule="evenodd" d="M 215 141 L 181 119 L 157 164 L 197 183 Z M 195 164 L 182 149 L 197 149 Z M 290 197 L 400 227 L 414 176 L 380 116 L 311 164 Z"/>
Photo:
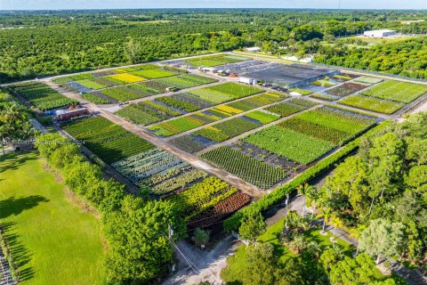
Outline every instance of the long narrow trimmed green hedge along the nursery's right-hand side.
<path fill-rule="evenodd" d="M 359 136 L 356 140 L 349 142 L 345 146 L 342 147 L 339 151 L 336 151 L 334 154 L 328 156 L 326 159 L 320 160 L 315 166 L 308 168 L 301 175 L 298 175 L 291 180 L 289 183 L 277 188 L 275 191 L 272 191 L 270 194 L 267 194 L 262 197 L 262 199 L 257 200 L 252 203 L 250 206 L 242 209 L 241 211 L 235 213 L 233 216 L 230 216 L 227 220 L 224 221 L 223 225 L 226 230 L 238 230 L 240 226 L 240 220 L 243 215 L 248 210 L 258 210 L 263 211 L 267 208 L 273 207 L 278 204 L 281 200 L 283 200 L 287 194 L 291 193 L 295 190 L 296 187 L 301 185 L 302 183 L 306 183 L 310 181 L 310 179 L 316 177 L 322 171 L 328 169 L 334 163 L 349 155 L 351 152 L 356 151 L 359 147 L 359 143 L 361 142 L 363 137 L 371 137 L 375 134 L 381 132 L 386 126 L 389 126 L 391 121 L 385 121 L 382 124 L 375 126 L 371 130 L 369 130 L 366 134 Z"/>

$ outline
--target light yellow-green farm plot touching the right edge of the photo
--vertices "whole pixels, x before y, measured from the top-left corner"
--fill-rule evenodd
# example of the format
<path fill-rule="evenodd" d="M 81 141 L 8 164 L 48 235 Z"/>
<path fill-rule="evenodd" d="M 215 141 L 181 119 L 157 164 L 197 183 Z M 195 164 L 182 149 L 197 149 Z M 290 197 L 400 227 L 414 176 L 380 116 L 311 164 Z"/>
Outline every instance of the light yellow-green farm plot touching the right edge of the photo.
<path fill-rule="evenodd" d="M 427 85 L 391 80 L 375 85 L 362 94 L 395 102 L 410 103 L 426 93 Z"/>

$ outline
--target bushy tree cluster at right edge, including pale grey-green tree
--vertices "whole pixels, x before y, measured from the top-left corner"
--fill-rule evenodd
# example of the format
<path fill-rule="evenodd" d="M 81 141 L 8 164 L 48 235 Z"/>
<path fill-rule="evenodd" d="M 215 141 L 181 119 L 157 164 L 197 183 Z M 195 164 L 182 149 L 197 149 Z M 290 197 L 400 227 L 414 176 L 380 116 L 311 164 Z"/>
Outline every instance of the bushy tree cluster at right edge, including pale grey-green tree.
<path fill-rule="evenodd" d="M 361 143 L 320 189 L 324 213 L 364 225 L 360 247 L 372 256 L 427 255 L 427 113 L 391 124 Z"/>

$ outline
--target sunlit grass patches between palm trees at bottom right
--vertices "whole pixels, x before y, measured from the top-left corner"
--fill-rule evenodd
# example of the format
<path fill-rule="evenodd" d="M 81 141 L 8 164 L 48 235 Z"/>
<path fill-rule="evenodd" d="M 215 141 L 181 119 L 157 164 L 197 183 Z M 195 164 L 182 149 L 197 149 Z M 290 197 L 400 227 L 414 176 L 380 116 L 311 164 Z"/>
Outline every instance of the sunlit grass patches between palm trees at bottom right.
<path fill-rule="evenodd" d="M 285 262 L 288 258 L 306 258 L 307 261 L 310 262 L 311 260 L 312 262 L 314 262 L 311 256 L 297 256 L 296 254 L 294 254 L 294 252 L 286 248 L 285 245 L 280 243 L 280 241 L 278 240 L 278 236 L 280 232 L 283 231 L 284 223 L 285 218 L 279 220 L 276 224 L 272 224 L 270 227 L 267 228 L 267 232 L 262 234 L 262 236 L 260 236 L 258 240 L 262 242 L 270 242 L 274 247 L 275 254 L 279 256 L 281 262 Z M 332 246 L 332 242 L 329 240 L 331 236 L 332 235 L 330 233 L 328 233 L 327 236 L 321 235 L 319 233 L 319 230 L 311 230 L 305 233 L 305 238 L 307 242 L 310 242 L 310 240 L 316 240 L 318 241 L 322 249 L 326 249 L 329 246 Z M 346 253 L 351 253 L 354 249 L 342 240 L 337 239 L 337 243 L 344 248 Z M 245 255 L 246 245 L 238 248 L 236 250 L 236 253 L 227 259 L 227 267 L 222 270 L 221 273 L 222 281 L 225 281 L 230 284 L 240 284 L 242 273 L 244 271 L 244 267 L 246 266 Z"/>

